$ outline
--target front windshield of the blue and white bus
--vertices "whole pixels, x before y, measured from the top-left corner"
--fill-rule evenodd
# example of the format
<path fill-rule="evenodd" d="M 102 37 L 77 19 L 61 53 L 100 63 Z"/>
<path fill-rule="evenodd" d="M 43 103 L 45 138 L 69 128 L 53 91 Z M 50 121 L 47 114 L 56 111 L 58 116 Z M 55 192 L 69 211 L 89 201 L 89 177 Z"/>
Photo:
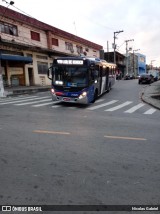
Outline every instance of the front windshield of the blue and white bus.
<path fill-rule="evenodd" d="M 79 66 L 53 66 L 53 84 L 65 87 L 86 87 L 88 69 Z"/>

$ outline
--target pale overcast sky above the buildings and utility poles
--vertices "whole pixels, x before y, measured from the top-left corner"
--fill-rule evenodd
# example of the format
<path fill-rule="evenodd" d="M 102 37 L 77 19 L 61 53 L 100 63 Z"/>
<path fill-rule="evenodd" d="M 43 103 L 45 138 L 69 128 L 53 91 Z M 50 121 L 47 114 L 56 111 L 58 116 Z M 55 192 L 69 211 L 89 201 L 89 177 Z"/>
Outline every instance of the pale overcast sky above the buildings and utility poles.
<path fill-rule="evenodd" d="M 0 0 L 7 6 L 4 0 Z M 10 0 L 6 0 L 10 2 Z M 147 64 L 160 66 L 160 0 L 14 0 L 10 9 L 102 45 L 113 51 L 114 32 L 117 50 L 125 53 L 125 40 L 132 50 L 140 49 Z M 20 12 L 17 10 L 18 12 Z"/>

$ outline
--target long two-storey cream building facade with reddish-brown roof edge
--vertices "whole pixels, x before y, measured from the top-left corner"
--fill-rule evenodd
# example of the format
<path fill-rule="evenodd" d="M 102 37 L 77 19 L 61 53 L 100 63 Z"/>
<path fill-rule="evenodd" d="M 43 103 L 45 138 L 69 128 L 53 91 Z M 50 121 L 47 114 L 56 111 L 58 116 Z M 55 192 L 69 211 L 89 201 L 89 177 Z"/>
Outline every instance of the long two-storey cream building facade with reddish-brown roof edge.
<path fill-rule="evenodd" d="M 0 6 L 0 68 L 5 86 L 50 85 L 58 56 L 100 57 L 101 45 Z"/>

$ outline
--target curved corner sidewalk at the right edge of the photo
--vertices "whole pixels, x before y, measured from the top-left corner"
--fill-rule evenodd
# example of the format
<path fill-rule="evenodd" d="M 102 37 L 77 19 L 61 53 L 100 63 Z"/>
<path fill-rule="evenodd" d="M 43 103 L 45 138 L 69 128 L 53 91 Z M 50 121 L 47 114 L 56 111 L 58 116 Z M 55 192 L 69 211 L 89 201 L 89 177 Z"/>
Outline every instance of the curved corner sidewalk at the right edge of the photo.
<path fill-rule="evenodd" d="M 141 99 L 160 110 L 160 80 L 146 85 L 141 93 Z"/>

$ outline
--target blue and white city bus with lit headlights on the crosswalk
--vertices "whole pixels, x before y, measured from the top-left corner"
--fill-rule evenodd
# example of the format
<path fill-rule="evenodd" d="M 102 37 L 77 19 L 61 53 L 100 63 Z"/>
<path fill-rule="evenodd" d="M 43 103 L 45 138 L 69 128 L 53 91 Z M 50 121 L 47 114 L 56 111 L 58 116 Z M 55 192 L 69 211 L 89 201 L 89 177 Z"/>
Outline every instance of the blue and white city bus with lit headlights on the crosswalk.
<path fill-rule="evenodd" d="M 59 57 L 48 69 L 53 101 L 89 104 L 115 83 L 116 65 L 99 58 Z"/>

